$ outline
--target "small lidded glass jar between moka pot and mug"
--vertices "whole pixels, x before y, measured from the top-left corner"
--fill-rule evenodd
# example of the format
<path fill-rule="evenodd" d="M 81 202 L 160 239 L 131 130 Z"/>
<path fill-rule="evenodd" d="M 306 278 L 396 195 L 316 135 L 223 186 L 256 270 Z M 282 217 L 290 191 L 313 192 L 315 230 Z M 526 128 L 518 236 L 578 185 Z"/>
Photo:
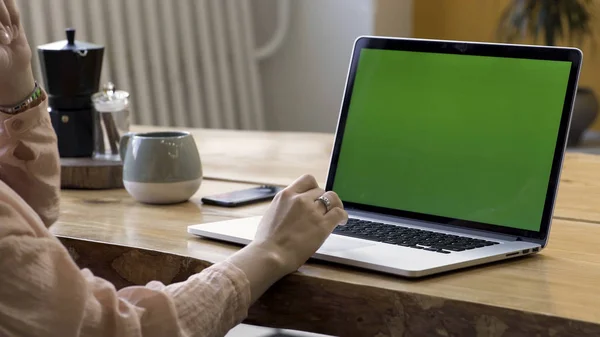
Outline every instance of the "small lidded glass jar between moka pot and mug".
<path fill-rule="evenodd" d="M 95 109 L 94 157 L 120 161 L 119 142 L 129 132 L 129 93 L 115 90 L 111 82 L 92 96 Z"/>

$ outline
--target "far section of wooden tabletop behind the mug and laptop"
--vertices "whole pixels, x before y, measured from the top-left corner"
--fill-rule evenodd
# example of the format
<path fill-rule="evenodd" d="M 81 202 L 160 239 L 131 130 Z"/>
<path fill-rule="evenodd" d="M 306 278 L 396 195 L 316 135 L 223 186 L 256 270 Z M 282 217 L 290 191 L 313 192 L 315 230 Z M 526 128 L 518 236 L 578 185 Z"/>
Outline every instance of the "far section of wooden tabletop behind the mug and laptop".
<path fill-rule="evenodd" d="M 133 130 L 149 132 L 169 128 L 135 126 Z M 287 186 L 308 173 L 321 185 L 325 184 L 333 147 L 331 134 L 178 130 L 186 130 L 194 136 L 208 178 Z M 599 205 L 600 156 L 567 153 L 555 217 L 600 223 Z"/>

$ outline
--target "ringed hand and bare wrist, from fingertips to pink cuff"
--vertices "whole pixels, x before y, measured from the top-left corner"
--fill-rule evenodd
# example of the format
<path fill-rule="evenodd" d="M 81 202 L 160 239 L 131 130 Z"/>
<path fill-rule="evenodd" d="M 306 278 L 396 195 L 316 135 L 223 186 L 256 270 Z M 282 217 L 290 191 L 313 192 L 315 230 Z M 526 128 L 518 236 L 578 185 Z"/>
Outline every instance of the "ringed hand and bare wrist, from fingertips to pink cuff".
<path fill-rule="evenodd" d="M 323 195 L 331 202 L 329 211 L 317 200 Z M 254 302 L 277 280 L 296 271 L 335 226 L 347 221 L 340 198 L 320 189 L 312 176 L 303 176 L 275 197 L 254 241 L 229 262 L 246 274 Z"/>

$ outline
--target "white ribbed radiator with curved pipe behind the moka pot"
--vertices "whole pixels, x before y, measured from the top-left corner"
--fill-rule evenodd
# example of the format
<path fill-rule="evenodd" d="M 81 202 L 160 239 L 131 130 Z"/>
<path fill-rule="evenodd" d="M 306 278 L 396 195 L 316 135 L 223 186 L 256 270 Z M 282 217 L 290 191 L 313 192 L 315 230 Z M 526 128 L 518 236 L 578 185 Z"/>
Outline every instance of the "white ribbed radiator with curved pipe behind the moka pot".
<path fill-rule="evenodd" d="M 34 48 L 76 39 L 106 47 L 102 81 L 131 93 L 134 123 L 264 129 L 259 61 L 285 38 L 289 0 L 273 39 L 257 48 L 252 0 L 18 0 Z"/>

